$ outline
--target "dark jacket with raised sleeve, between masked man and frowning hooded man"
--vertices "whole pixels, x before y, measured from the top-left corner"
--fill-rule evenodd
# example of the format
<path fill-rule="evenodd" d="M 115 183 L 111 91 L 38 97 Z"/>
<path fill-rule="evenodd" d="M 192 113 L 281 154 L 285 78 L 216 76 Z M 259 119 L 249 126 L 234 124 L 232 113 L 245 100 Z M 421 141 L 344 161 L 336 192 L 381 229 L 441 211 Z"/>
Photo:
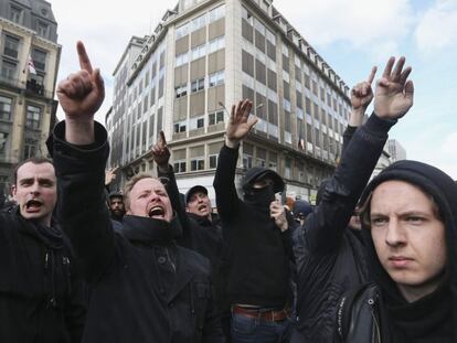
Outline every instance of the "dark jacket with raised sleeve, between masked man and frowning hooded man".
<path fill-rule="evenodd" d="M 297 332 L 293 342 L 332 342 L 341 296 L 369 278 L 360 233 L 347 228 L 394 121 L 372 115 L 343 151 L 322 199 L 294 234 Z"/>

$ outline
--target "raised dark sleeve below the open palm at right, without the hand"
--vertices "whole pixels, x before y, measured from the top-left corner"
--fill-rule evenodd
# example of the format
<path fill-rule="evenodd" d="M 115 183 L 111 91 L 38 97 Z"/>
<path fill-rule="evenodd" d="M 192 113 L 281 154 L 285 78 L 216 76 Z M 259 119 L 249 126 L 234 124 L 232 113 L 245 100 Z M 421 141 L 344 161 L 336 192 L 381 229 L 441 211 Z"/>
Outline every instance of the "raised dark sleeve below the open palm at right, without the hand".
<path fill-rule="evenodd" d="M 334 250 L 382 153 L 387 132 L 396 120 L 372 115 L 353 135 L 341 163 L 323 190 L 322 201 L 299 228 L 298 245 L 315 254 Z M 302 251 L 304 249 L 296 249 Z M 299 256 L 297 256 L 297 260 Z"/>

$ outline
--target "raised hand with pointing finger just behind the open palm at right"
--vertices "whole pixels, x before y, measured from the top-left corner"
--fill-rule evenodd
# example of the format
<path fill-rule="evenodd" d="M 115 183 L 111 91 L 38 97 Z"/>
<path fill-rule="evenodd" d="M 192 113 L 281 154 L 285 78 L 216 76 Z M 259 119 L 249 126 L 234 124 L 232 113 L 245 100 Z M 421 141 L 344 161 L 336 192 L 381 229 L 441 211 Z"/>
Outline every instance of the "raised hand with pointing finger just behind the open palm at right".
<path fill-rule="evenodd" d="M 373 83 L 374 75 L 376 75 L 376 71 L 378 67 L 373 66 L 368 79 L 357 84 L 351 90 L 351 114 L 349 116 L 348 127 L 343 132 L 342 153 L 344 153 L 344 150 L 357 128 L 362 125 L 366 108 L 369 107 L 371 100 L 373 100 L 371 84 Z"/>

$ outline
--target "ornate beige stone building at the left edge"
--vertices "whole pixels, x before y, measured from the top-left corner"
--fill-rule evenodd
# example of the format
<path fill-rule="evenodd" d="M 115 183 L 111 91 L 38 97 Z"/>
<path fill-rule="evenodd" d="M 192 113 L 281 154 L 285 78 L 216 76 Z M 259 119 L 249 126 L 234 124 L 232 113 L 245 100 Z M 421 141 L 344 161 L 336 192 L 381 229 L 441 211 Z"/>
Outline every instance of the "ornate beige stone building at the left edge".
<path fill-rule="evenodd" d="M 0 192 L 13 165 L 46 156 L 61 45 L 51 4 L 0 0 Z"/>

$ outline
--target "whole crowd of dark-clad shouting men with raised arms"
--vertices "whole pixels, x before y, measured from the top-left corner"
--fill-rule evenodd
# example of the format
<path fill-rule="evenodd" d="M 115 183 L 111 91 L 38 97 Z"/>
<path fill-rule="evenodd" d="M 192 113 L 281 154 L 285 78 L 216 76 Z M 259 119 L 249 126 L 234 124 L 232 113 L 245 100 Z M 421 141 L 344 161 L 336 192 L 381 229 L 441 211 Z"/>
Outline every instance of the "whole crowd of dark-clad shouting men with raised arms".
<path fill-rule="evenodd" d="M 62 81 L 51 159 L 19 163 L 0 204 L 0 342 L 457 342 L 457 185 L 400 161 L 370 181 L 413 106 L 405 58 L 351 90 L 341 161 L 316 206 L 284 206 L 283 178 L 235 185 L 252 101 L 232 106 L 214 178 L 181 194 L 163 132 L 158 178 L 109 190 L 105 89 L 82 42 Z M 368 106 L 373 114 L 363 124 Z"/>

